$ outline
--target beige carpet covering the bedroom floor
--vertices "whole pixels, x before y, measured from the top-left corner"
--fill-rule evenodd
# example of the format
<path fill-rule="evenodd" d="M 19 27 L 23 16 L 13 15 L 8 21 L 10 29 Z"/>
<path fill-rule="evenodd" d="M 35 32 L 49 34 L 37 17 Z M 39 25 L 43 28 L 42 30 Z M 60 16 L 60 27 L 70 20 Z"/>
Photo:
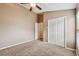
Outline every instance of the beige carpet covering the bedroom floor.
<path fill-rule="evenodd" d="M 75 51 L 39 40 L 0 50 L 0 56 L 74 56 Z"/>

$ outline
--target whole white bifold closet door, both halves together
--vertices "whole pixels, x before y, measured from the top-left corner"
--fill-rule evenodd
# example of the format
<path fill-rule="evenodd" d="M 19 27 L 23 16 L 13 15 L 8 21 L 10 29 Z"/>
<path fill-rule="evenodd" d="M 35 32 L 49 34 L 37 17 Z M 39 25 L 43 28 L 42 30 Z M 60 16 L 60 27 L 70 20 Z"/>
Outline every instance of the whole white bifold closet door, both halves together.
<path fill-rule="evenodd" d="M 64 17 L 48 20 L 48 43 L 65 47 Z"/>

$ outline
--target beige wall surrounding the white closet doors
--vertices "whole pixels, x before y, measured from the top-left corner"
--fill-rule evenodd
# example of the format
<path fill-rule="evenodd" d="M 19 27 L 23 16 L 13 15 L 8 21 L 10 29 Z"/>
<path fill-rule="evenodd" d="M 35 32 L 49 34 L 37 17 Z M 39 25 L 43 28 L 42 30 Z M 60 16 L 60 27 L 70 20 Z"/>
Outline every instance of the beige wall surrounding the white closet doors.
<path fill-rule="evenodd" d="M 48 40 L 48 20 L 66 16 L 65 39 L 68 48 L 75 48 L 75 10 L 51 11 L 44 13 L 44 41 Z"/>

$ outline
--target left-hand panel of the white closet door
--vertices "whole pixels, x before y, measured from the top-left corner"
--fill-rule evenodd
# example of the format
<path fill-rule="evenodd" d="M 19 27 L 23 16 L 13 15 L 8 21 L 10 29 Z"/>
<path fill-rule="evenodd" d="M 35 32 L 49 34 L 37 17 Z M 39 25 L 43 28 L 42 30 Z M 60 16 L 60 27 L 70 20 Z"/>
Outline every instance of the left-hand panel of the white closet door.
<path fill-rule="evenodd" d="M 56 21 L 49 20 L 48 21 L 48 42 L 56 44 Z"/>

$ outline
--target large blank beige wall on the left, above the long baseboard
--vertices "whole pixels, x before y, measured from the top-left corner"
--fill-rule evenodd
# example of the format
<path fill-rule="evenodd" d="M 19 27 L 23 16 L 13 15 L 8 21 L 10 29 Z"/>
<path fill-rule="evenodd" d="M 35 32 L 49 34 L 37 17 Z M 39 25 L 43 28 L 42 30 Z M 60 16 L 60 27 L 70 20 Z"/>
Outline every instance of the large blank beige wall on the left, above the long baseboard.
<path fill-rule="evenodd" d="M 34 40 L 36 14 L 19 4 L 0 4 L 0 48 Z"/>

